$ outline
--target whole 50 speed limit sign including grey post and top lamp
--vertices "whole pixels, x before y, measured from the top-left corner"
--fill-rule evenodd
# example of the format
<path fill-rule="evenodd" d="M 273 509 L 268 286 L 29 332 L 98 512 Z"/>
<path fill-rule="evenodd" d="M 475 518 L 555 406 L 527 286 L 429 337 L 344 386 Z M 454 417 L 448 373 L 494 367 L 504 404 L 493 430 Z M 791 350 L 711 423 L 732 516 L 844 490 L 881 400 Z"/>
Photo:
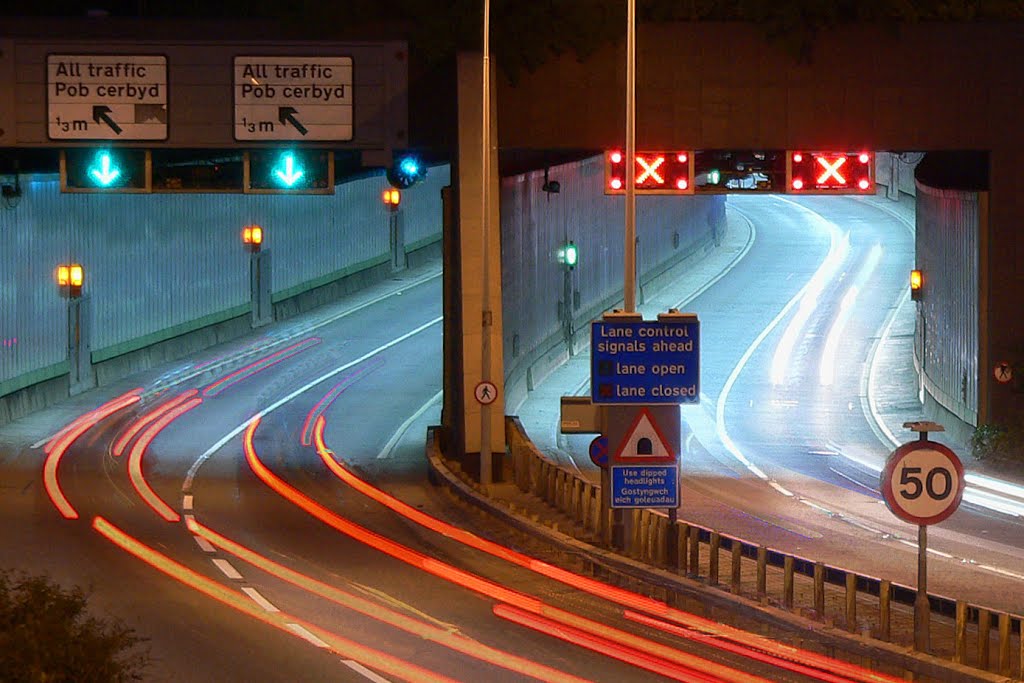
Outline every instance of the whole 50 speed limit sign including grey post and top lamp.
<path fill-rule="evenodd" d="M 943 521 L 964 498 L 964 465 L 950 449 L 928 439 L 930 431 L 944 431 L 934 422 L 907 422 L 919 433 L 916 441 L 899 446 L 882 470 L 886 505 L 900 519 L 918 525 L 918 595 L 913 603 L 913 646 L 928 652 L 931 607 L 928 602 L 928 525 Z"/>

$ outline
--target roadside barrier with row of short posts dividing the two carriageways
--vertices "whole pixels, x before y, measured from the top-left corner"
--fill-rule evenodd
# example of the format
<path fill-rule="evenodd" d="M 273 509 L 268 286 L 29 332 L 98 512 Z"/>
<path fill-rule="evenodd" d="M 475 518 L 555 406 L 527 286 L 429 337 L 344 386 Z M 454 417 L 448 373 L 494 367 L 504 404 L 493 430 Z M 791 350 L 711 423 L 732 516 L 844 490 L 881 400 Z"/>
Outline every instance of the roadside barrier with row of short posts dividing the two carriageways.
<path fill-rule="evenodd" d="M 507 418 L 506 434 L 512 479 L 519 490 L 566 515 L 575 538 L 610 547 L 612 511 L 601 505 L 601 487 L 542 454 L 517 418 Z M 632 517 L 627 524 L 631 532 L 620 550 L 636 560 L 864 637 L 913 645 L 913 587 L 682 519 L 670 535 L 668 515 L 659 510 L 623 512 Z M 670 538 L 676 539 L 675 548 L 669 547 Z M 1024 679 L 1024 616 L 933 593 L 929 604 L 933 654 Z"/>

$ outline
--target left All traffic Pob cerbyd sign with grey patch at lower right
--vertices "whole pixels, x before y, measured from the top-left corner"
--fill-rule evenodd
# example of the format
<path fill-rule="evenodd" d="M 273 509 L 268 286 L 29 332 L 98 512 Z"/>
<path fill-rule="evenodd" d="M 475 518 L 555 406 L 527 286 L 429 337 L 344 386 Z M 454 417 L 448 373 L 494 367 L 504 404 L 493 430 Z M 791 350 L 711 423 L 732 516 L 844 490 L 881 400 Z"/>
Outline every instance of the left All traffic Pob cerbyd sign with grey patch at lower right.
<path fill-rule="evenodd" d="M 166 140 L 167 57 L 46 56 L 51 140 Z"/>

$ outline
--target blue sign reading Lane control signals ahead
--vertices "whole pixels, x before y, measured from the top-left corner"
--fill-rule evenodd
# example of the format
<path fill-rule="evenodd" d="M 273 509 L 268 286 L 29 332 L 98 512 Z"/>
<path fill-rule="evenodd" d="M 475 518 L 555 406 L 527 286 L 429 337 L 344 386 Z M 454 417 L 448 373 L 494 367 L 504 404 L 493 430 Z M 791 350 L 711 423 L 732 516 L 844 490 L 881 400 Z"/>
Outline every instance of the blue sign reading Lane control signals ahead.
<path fill-rule="evenodd" d="M 700 402 L 700 323 L 595 321 L 591 324 L 595 403 Z"/>

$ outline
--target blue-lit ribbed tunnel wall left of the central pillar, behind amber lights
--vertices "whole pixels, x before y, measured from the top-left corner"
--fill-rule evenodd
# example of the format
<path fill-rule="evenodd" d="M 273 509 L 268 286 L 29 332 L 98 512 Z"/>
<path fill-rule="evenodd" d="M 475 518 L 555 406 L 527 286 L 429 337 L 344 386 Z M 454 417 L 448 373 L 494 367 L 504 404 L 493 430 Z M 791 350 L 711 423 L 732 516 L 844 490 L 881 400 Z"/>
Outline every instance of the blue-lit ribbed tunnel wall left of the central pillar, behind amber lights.
<path fill-rule="evenodd" d="M 251 331 L 242 227 L 265 230 L 274 317 L 390 273 L 383 174 L 329 196 L 62 194 L 55 174 L 20 177 L 0 207 L 0 424 L 71 388 L 68 302 L 54 271 L 81 263 L 92 372 L 102 385 Z M 439 255 L 449 166 L 402 193 L 411 263 Z"/>

